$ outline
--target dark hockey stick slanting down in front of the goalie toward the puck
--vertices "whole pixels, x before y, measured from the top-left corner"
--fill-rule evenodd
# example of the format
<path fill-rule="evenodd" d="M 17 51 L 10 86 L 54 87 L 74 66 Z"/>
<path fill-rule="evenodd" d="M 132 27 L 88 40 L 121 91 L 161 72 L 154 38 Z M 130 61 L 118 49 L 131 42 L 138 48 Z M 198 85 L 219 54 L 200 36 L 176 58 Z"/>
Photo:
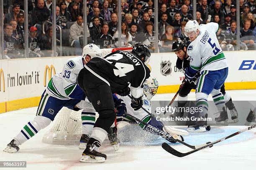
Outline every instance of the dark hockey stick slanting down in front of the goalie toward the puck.
<path fill-rule="evenodd" d="M 146 111 L 146 112 L 147 112 L 147 111 Z M 187 143 L 185 143 L 185 142 L 183 142 L 183 141 L 181 141 L 181 140 L 176 139 L 177 136 L 172 137 L 170 134 L 164 132 L 163 130 L 157 129 L 157 128 L 154 127 L 154 126 L 151 126 L 150 124 L 148 124 L 148 123 L 146 123 L 146 122 L 143 122 L 141 119 L 138 119 L 138 118 L 134 117 L 133 115 L 128 114 L 127 112 L 125 112 L 125 114 L 126 114 L 127 116 L 133 118 L 134 120 L 140 122 L 141 124 L 144 124 L 147 129 L 150 129 L 151 131 L 156 132 L 156 134 L 158 134 L 159 136 L 161 136 L 161 137 L 163 137 L 164 139 L 168 140 L 169 142 L 170 142 L 170 140 L 174 140 L 174 141 L 177 141 L 177 142 L 179 142 L 179 143 L 181 143 L 181 144 L 183 144 L 183 145 L 185 145 L 185 146 L 187 146 L 187 147 L 190 147 L 190 148 L 193 149 L 193 150 L 196 149 L 195 146 L 189 145 L 189 144 L 187 144 Z M 177 134 L 175 134 L 175 135 L 177 135 Z M 168 144 L 167 144 L 167 145 L 168 145 Z M 168 146 L 169 146 L 169 145 L 168 145 Z"/>

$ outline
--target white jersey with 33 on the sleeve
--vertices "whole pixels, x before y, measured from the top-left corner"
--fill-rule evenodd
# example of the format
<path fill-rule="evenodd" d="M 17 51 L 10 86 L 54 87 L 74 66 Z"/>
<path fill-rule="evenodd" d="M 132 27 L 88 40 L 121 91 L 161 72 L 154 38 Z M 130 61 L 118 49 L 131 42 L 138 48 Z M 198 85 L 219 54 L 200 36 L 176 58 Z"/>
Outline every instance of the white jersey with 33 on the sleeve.
<path fill-rule="evenodd" d="M 48 83 L 46 92 L 61 100 L 84 100 L 84 92 L 77 85 L 77 76 L 84 68 L 82 56 L 71 58 L 64 65 L 62 72 L 55 74 Z"/>

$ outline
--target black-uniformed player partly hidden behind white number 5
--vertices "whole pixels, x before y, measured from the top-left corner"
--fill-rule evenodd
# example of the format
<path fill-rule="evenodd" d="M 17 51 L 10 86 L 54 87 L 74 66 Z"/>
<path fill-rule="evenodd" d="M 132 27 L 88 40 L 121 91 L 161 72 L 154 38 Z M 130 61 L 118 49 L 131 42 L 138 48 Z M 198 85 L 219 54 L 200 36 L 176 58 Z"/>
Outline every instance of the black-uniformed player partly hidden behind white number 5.
<path fill-rule="evenodd" d="M 189 56 L 187 55 L 187 47 L 186 47 L 184 41 L 182 41 L 180 39 L 175 41 L 172 45 L 172 50 L 178 57 L 177 62 L 176 62 L 176 67 L 178 69 L 180 69 L 181 71 L 184 71 L 189 66 L 189 62 L 190 62 L 188 60 Z M 190 91 L 192 89 L 196 89 L 197 78 L 198 78 L 198 76 L 195 76 L 195 78 L 192 81 L 185 82 L 182 90 L 179 92 L 179 95 L 178 95 L 178 107 L 184 107 L 185 104 L 187 103 L 187 99 L 188 99 L 187 95 L 190 93 Z M 234 106 L 230 95 L 225 92 L 224 84 L 221 87 L 220 91 L 222 92 L 222 94 L 224 96 L 226 107 L 228 107 L 228 109 L 230 110 L 231 119 L 234 122 L 238 122 L 238 113 L 236 111 L 236 107 Z M 223 115 L 223 114 L 220 114 L 220 115 Z M 183 112 L 176 113 L 176 114 L 174 114 L 174 116 L 182 117 Z M 215 119 L 215 121 L 218 123 L 218 122 L 222 122 L 223 119 L 224 119 L 224 117 L 217 117 Z M 228 114 L 226 114 L 225 119 L 228 119 Z M 196 128 L 197 128 L 197 126 L 195 126 L 195 129 Z M 189 131 L 189 129 L 188 129 L 188 131 Z"/>

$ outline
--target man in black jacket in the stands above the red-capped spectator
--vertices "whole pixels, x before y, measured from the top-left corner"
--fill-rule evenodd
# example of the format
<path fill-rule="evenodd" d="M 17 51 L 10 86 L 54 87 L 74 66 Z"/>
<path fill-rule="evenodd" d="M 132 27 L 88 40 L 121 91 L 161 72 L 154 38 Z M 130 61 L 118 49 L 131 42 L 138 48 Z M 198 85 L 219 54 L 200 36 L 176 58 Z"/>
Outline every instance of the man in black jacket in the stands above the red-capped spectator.
<path fill-rule="evenodd" d="M 44 21 L 49 20 L 50 11 L 44 6 L 44 0 L 37 0 L 37 5 L 32 10 L 32 25 L 38 24 L 38 32 L 41 33 L 41 25 Z"/>

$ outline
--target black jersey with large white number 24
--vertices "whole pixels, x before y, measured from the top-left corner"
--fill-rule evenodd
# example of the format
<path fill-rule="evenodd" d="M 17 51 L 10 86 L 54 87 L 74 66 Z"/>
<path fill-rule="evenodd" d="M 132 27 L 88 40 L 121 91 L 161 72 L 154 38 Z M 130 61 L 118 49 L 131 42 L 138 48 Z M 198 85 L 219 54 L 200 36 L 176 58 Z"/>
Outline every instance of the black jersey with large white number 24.
<path fill-rule="evenodd" d="M 131 84 L 132 90 L 141 89 L 143 83 L 150 76 L 148 67 L 134 54 L 127 51 L 116 51 L 102 58 L 92 58 L 85 67 L 107 80 L 112 93 L 118 93 Z M 142 95 L 138 94 L 140 97 Z"/>

